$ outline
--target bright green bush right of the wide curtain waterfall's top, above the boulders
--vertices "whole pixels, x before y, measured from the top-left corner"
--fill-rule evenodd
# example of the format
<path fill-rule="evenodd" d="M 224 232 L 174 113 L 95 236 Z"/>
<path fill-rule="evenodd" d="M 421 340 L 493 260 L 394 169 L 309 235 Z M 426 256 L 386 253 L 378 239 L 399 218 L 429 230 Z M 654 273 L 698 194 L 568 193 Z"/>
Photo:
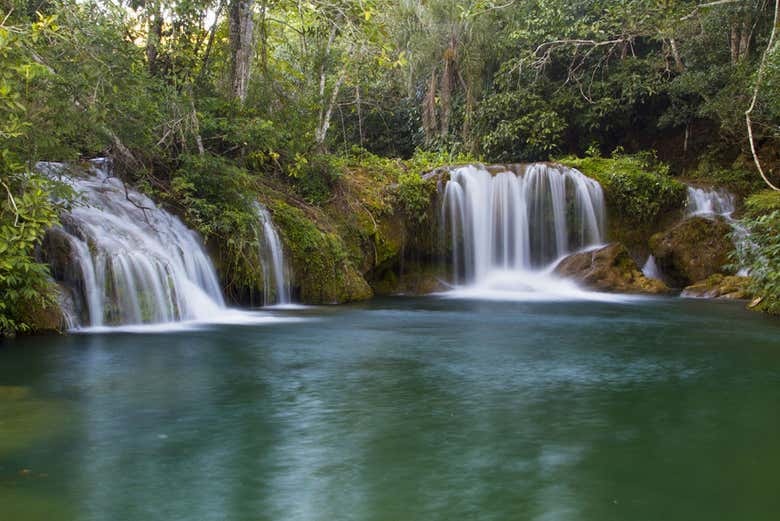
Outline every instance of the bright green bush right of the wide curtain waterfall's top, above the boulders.
<path fill-rule="evenodd" d="M 629 223 L 655 223 L 685 203 L 685 185 L 669 176 L 668 166 L 647 154 L 565 157 L 560 162 L 601 183 L 610 212 Z"/>

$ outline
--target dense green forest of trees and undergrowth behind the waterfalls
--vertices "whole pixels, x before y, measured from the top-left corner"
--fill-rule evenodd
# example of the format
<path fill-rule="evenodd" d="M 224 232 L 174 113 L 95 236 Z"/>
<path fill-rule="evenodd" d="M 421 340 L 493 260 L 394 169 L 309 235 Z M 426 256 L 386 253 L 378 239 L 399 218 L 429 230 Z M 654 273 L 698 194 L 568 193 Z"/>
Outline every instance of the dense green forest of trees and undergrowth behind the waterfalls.
<path fill-rule="evenodd" d="M 378 216 L 409 236 L 425 228 L 435 186 L 421 174 L 448 164 L 568 162 L 602 181 L 627 227 L 674 206 L 680 179 L 724 187 L 744 201 L 751 237 L 732 261 L 751 267 L 754 302 L 778 312 L 777 11 L 771 0 L 0 0 L 0 330 L 34 327 L 32 310 L 56 298 L 39 248 L 78 204 L 36 163 L 95 157 L 209 242 L 235 301 L 252 298 L 258 197 L 307 266 L 298 276 L 322 286 L 333 262 L 387 281 L 399 248 L 426 251 L 399 246 Z M 316 291 L 304 280 L 303 300 L 370 291 L 350 273 Z"/>

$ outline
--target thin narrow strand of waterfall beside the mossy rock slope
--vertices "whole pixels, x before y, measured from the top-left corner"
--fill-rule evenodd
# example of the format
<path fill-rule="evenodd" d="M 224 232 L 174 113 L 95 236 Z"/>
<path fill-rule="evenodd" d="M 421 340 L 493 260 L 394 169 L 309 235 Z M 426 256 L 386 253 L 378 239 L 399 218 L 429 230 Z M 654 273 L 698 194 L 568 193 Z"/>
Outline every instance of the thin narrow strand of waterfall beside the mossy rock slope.
<path fill-rule="evenodd" d="M 263 303 L 288 304 L 290 302 L 290 282 L 287 277 L 287 265 L 284 261 L 284 249 L 276 232 L 271 214 L 260 203 L 255 203 L 260 223 L 260 263 L 263 268 Z"/>

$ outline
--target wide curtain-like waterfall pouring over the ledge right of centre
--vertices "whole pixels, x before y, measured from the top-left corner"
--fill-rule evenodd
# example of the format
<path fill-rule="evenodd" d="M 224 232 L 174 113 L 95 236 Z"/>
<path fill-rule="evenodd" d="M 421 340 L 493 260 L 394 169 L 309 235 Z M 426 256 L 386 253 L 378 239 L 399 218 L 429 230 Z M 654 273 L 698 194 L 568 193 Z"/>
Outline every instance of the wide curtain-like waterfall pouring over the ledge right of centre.
<path fill-rule="evenodd" d="M 480 166 L 454 169 L 442 219 L 456 283 L 495 271 L 539 270 L 567 253 L 603 242 L 601 185 L 581 172 L 531 164 L 517 173 Z"/>

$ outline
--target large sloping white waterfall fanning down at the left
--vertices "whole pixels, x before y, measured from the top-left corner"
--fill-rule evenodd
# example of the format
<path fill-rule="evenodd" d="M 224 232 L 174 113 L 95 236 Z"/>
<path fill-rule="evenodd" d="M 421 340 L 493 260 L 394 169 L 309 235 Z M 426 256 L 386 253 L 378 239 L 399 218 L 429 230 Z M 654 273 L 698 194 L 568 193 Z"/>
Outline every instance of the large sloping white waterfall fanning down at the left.
<path fill-rule="evenodd" d="M 145 195 L 111 177 L 105 161 L 89 175 L 42 163 L 80 194 L 52 230 L 67 251 L 50 253 L 55 273 L 70 273 L 83 325 L 213 319 L 225 306 L 200 238 Z M 86 319 L 86 320 L 85 320 Z"/>

